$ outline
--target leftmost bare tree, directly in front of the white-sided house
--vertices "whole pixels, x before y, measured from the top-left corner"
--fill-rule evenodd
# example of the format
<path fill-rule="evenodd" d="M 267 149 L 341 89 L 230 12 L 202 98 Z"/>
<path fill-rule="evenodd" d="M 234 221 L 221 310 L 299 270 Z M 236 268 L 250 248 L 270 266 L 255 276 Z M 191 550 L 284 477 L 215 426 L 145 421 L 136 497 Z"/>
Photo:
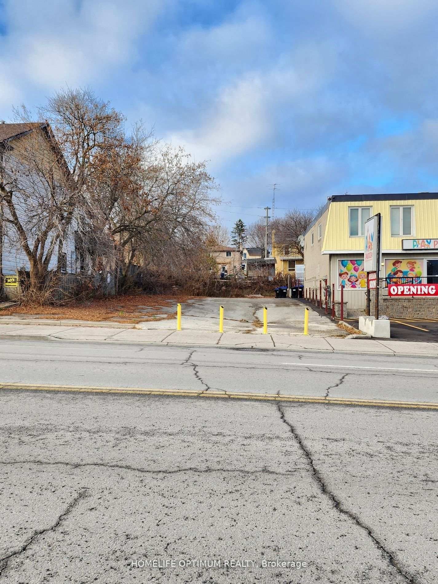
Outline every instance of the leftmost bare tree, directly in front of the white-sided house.
<path fill-rule="evenodd" d="M 19 137 L 0 147 L 0 202 L 8 246 L 27 259 L 30 289 L 37 294 L 75 217 L 75 190 L 50 126 L 22 123 L 17 130 Z"/>

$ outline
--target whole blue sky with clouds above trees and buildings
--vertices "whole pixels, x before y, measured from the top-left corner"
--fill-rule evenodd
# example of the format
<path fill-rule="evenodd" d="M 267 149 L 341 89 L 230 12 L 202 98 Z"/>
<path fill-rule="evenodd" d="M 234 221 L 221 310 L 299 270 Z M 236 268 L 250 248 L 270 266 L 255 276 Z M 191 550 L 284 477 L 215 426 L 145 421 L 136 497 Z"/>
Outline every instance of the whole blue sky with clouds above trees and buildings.
<path fill-rule="evenodd" d="M 438 191 L 436 0 L 0 0 L 0 119 L 93 88 L 183 145 L 221 223 Z"/>

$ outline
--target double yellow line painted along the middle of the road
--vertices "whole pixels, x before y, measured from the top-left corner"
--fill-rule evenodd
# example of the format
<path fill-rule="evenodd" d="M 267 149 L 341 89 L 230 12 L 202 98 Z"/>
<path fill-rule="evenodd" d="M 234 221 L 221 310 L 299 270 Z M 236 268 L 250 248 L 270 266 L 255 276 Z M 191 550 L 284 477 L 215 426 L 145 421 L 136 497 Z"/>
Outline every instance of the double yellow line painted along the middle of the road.
<path fill-rule="evenodd" d="M 381 408 L 412 408 L 436 409 L 438 403 L 391 401 L 386 399 L 357 399 L 357 398 L 323 398 L 311 395 L 277 395 L 254 394 L 246 392 L 222 391 L 193 391 L 193 390 L 160 390 L 153 388 L 124 388 L 124 387 L 84 387 L 76 385 L 36 385 L 23 383 L 0 383 L 0 390 L 31 390 L 31 391 L 74 391 L 84 393 L 103 394 L 137 394 L 137 395 L 173 395 L 178 397 L 203 397 L 226 399 L 252 399 L 255 401 L 287 401 L 304 404 L 331 404 L 331 405 L 361 405 L 378 406 Z"/>

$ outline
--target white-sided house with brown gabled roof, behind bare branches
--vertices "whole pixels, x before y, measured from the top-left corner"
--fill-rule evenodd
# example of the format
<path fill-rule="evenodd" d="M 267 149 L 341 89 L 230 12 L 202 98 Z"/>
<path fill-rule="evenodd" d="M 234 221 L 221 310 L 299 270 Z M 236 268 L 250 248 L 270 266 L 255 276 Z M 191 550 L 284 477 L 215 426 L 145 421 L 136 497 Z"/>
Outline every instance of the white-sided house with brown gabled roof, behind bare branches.
<path fill-rule="evenodd" d="M 16 189 L 14 189 L 13 200 L 17 213 L 21 213 L 18 219 L 23 225 L 26 225 L 27 242 L 32 246 L 38 235 L 37 227 L 32 230 L 32 218 L 26 217 L 26 210 L 29 209 L 29 201 L 32 197 L 37 198 L 41 193 L 43 197 L 44 187 L 40 176 L 32 175 L 29 164 L 29 148 L 34 148 L 35 159 L 38 164 L 47 164 L 52 169 L 54 185 L 60 176 L 69 173 L 67 164 L 65 164 L 59 148 L 55 143 L 49 124 L 32 123 L 32 124 L 6 124 L 0 122 L 0 173 L 1 180 L 5 182 L 5 188 L 11 181 L 15 180 Z M 26 158 L 27 156 L 27 158 Z M 47 176 L 49 173 L 47 173 Z M 16 177 L 16 179 L 14 179 Z M 29 192 L 27 192 L 29 186 Z M 55 188 L 55 187 L 54 187 Z M 30 197 L 30 198 L 29 198 Z M 36 203 L 34 209 L 38 209 Z M 38 217 L 34 218 L 34 225 L 37 224 Z M 44 219 L 43 219 L 44 221 Z M 47 235 L 46 249 L 50 246 L 51 234 Z M 74 234 L 67 238 L 62 249 L 54 249 L 48 269 L 58 268 L 64 273 L 75 273 L 77 271 L 77 257 L 75 253 Z M 18 287 L 5 287 L 2 290 L 5 277 L 16 276 L 18 272 L 29 270 L 29 259 L 20 244 L 20 237 L 16 231 L 15 225 L 11 222 L 6 203 L 0 204 L 0 277 L 1 286 L 0 294 L 6 297 L 13 297 L 18 292 Z M 11 280 L 10 278 L 8 280 Z"/>

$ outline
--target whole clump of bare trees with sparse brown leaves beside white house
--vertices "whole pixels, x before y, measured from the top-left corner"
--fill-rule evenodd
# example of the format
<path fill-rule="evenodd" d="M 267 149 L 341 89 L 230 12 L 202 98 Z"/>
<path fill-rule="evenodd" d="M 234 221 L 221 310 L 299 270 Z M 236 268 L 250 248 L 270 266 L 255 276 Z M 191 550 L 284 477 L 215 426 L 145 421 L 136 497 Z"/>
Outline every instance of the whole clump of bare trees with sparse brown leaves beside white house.
<path fill-rule="evenodd" d="M 122 114 L 90 89 L 55 93 L 40 123 L 25 107 L 16 114 L 26 138 L 1 148 L 0 203 L 34 291 L 60 271 L 67 244 L 87 274 L 199 258 L 220 201 L 206 162 L 160 146 L 142 123 L 128 135 Z"/>

